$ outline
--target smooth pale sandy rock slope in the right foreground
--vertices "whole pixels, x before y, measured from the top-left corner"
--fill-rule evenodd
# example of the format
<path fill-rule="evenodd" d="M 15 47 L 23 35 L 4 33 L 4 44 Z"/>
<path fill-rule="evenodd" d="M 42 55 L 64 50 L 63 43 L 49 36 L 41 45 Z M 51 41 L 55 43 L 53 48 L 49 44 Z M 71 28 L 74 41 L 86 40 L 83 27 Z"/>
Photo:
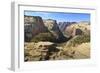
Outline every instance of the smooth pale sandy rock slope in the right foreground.
<path fill-rule="evenodd" d="M 75 47 L 68 47 L 65 45 L 63 54 L 73 59 L 88 59 L 90 58 L 90 43 L 82 43 Z"/>

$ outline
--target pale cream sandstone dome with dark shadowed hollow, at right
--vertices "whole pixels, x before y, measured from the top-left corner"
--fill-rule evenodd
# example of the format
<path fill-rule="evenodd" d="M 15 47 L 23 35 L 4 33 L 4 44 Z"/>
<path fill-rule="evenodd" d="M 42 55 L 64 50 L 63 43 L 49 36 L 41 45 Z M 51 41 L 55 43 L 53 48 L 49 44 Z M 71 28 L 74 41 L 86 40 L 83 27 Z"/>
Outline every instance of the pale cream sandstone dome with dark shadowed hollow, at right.
<path fill-rule="evenodd" d="M 76 24 L 71 24 L 66 27 L 63 31 L 66 37 L 74 37 L 76 35 L 89 35 L 90 34 L 90 25 L 89 22 L 79 22 Z"/>

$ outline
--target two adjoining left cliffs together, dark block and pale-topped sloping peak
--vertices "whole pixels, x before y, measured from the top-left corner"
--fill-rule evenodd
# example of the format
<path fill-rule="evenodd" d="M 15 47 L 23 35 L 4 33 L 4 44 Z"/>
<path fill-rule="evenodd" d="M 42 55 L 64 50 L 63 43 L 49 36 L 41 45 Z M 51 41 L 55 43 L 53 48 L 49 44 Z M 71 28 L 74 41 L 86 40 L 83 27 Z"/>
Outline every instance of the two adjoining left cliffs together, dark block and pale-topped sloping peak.
<path fill-rule="evenodd" d="M 52 34 L 56 42 L 65 41 L 65 37 L 59 29 L 56 20 L 43 20 L 39 16 L 24 16 L 25 41 L 30 41 L 39 33 Z"/>

